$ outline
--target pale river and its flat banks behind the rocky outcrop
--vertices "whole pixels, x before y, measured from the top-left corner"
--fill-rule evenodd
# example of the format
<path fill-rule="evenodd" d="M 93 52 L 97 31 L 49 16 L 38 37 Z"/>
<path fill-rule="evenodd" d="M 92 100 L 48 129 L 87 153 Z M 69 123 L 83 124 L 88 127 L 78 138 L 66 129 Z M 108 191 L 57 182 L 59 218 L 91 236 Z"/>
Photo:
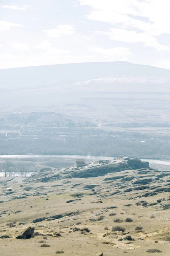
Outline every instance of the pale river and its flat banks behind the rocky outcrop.
<path fill-rule="evenodd" d="M 113 160 L 115 157 L 94 156 L 94 155 L 0 155 L 0 177 L 5 176 L 5 169 L 10 170 L 11 176 L 21 176 L 26 173 L 26 177 L 40 171 L 42 168 L 68 168 L 73 166 L 76 158 L 84 158 L 85 162 L 91 163 L 96 160 Z M 168 170 L 170 161 L 158 159 L 142 159 L 148 161 L 153 169 L 160 171 Z M 8 167 L 7 167 L 8 166 Z M 7 176 L 9 172 L 7 172 Z"/>

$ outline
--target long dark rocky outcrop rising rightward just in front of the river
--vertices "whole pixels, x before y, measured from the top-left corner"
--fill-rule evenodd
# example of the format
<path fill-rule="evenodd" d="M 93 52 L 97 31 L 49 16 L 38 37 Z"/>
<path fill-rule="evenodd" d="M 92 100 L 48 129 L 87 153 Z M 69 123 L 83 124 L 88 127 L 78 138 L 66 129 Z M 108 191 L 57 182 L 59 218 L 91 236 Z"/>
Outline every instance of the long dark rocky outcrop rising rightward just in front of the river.
<path fill-rule="evenodd" d="M 53 172 L 39 172 L 37 175 L 28 179 L 30 182 L 49 182 L 65 178 L 88 178 L 104 176 L 109 173 L 122 172 L 125 170 L 137 170 L 142 168 L 149 168 L 149 162 L 144 162 L 139 158 L 130 159 L 127 157 L 113 160 L 99 160 L 89 163 L 88 166 L 81 166 L 79 168 L 71 166 L 67 169 L 56 169 Z M 124 176 L 125 177 L 125 176 Z M 124 178 L 123 176 L 120 178 Z M 106 180 L 114 180 L 115 177 L 106 177 Z M 118 177 L 119 179 L 119 177 Z M 124 180 L 122 180 L 124 181 Z"/>

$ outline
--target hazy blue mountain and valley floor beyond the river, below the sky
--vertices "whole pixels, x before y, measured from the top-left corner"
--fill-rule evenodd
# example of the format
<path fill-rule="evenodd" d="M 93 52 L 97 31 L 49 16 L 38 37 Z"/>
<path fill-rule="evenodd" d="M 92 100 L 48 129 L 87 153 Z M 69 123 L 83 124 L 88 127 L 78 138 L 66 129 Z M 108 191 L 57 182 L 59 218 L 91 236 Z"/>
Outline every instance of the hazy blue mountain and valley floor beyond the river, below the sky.
<path fill-rule="evenodd" d="M 169 82 L 128 62 L 0 70 L 0 154 L 169 158 Z"/>

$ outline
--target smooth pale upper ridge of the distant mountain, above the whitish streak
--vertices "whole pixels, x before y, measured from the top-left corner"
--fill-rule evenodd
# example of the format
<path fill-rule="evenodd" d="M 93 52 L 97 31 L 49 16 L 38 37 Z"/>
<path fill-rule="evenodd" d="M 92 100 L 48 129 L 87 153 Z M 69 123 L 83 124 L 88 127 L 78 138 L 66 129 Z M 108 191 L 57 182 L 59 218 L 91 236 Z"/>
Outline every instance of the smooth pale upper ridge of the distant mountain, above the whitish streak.
<path fill-rule="evenodd" d="M 158 82 L 164 78 L 166 82 L 170 79 L 170 70 L 124 61 L 19 67 L 0 70 L 0 88 L 62 85 L 111 77 L 119 77 L 119 80 L 122 77 L 145 77 L 146 80 L 148 76 Z"/>

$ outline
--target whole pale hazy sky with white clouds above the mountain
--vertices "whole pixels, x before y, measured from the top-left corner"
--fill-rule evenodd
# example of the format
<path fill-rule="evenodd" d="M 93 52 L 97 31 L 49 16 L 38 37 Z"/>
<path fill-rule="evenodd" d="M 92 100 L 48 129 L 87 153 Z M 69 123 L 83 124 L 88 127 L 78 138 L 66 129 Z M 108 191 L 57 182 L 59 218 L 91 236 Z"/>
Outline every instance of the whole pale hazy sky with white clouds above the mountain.
<path fill-rule="evenodd" d="M 0 0 L 0 69 L 88 61 L 170 69 L 170 0 Z"/>

